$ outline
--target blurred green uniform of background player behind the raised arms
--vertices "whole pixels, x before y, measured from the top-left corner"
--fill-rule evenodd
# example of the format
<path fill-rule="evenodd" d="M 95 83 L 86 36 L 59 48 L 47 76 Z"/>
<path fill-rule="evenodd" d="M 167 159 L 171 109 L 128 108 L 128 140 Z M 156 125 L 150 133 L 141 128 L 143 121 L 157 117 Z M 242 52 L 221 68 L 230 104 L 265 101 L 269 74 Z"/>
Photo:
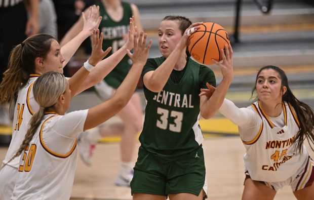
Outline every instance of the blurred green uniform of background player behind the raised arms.
<path fill-rule="evenodd" d="M 99 13 L 102 20 L 99 25 L 99 30 L 103 33 L 104 41 L 102 49 L 106 50 L 112 47 L 110 53 L 106 56 L 109 57 L 114 52 L 119 50 L 126 41 L 123 39 L 124 34 L 128 34 L 130 26 L 130 17 L 132 17 L 132 9 L 130 4 L 122 2 L 123 17 L 119 22 L 113 21 L 107 14 L 101 1 L 98 3 Z M 118 88 L 123 82 L 124 78 L 130 70 L 129 56 L 126 55 L 122 61 L 105 77 L 105 81 L 113 88 Z"/>

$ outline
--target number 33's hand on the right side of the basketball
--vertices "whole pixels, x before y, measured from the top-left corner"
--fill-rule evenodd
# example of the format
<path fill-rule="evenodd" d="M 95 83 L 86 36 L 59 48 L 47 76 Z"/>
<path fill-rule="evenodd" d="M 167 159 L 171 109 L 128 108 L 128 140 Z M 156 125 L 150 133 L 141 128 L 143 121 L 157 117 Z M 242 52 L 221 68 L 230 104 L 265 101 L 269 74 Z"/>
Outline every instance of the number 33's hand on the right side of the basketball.
<path fill-rule="evenodd" d="M 222 62 L 217 62 L 212 59 L 214 63 L 216 63 L 220 69 L 223 78 L 227 78 L 228 81 L 232 82 L 233 79 L 233 51 L 231 45 L 224 45 L 224 49 L 220 50 L 222 55 Z"/>

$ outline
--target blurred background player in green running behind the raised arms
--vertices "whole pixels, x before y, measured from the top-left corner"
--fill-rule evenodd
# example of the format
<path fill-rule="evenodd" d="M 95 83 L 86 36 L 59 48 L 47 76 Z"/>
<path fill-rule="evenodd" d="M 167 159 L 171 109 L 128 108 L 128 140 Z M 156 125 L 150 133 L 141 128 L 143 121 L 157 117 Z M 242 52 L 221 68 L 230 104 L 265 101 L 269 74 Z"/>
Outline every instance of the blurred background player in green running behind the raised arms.
<path fill-rule="evenodd" d="M 142 30 L 139 11 L 134 4 L 124 3 L 120 0 L 101 0 L 97 1 L 96 4 L 100 7 L 100 16 L 103 17 L 99 25 L 99 30 L 104 35 L 103 48 L 112 47 L 111 52 L 108 54 L 111 55 L 126 43 L 132 15 L 137 30 Z M 75 31 L 77 32 L 80 29 L 82 29 L 82 19 L 74 24 L 61 44 L 66 42 L 68 37 L 74 36 Z M 120 86 L 130 70 L 130 64 L 129 57 L 126 55 L 104 81 L 94 87 L 101 99 L 108 99 L 115 92 L 115 89 Z M 85 164 L 91 165 L 92 151 L 99 139 L 106 136 L 121 136 L 122 163 L 115 184 L 130 186 L 133 177 L 132 168 L 134 167 L 131 162 L 132 155 L 137 134 L 141 131 L 143 125 L 143 112 L 139 95 L 134 93 L 126 107 L 117 115 L 122 119 L 122 122 L 113 125 L 103 124 L 79 136 L 80 155 Z"/>

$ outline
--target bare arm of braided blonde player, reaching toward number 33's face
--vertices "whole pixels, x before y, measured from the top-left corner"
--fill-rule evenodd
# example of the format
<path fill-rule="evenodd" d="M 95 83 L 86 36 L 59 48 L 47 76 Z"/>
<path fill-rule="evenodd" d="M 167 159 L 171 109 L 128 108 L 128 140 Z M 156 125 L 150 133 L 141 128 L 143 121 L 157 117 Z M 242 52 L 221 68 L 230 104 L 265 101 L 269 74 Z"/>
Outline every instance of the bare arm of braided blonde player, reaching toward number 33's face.
<path fill-rule="evenodd" d="M 139 37 L 135 33 L 135 36 L 134 53 L 132 54 L 128 50 L 128 55 L 133 60 L 133 65 L 128 75 L 109 100 L 88 110 L 84 130 L 91 129 L 105 122 L 119 112 L 132 97 L 152 44 L 150 41 L 146 47 L 147 34 L 144 34 L 144 32 L 141 32 Z"/>

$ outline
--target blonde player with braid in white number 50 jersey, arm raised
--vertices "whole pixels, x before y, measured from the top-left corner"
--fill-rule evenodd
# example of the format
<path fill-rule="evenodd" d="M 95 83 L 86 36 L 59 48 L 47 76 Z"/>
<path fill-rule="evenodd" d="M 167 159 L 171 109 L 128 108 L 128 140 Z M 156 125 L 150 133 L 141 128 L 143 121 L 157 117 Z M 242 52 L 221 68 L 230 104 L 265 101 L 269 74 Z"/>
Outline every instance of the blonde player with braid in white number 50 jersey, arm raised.
<path fill-rule="evenodd" d="M 69 199 L 77 161 L 76 137 L 103 123 L 130 100 L 146 62 L 151 41 L 134 34 L 132 68 L 112 98 L 90 109 L 65 114 L 71 93 L 66 78 L 57 72 L 38 77 L 33 86 L 40 108 L 31 118 L 25 139 L 14 156 L 19 172 L 11 199 Z"/>

